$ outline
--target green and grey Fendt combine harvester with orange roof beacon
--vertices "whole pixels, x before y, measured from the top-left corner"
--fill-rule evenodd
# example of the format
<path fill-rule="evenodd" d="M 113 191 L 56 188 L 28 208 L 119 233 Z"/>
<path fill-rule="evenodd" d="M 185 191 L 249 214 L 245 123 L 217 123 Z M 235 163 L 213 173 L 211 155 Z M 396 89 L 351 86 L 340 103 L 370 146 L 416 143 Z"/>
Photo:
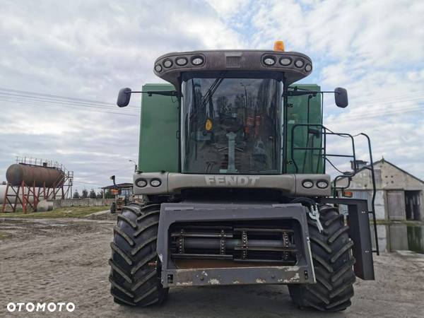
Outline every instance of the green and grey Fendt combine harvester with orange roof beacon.
<path fill-rule="evenodd" d="M 168 83 L 119 91 L 119 107 L 143 94 L 134 194 L 145 202 L 117 216 L 115 302 L 160 304 L 175 286 L 284 284 L 299 307 L 333 312 L 351 305 L 356 276 L 374 279 L 373 201 L 338 196 L 348 185 L 334 179 L 350 180 L 356 164 L 333 182 L 326 174 L 331 158 L 356 162 L 355 136 L 323 126 L 330 92 L 296 84 L 311 72 L 282 42 L 172 52 L 154 64 Z M 345 89 L 331 93 L 348 105 Z M 327 153 L 329 135 L 351 139 L 353 153 Z"/>

